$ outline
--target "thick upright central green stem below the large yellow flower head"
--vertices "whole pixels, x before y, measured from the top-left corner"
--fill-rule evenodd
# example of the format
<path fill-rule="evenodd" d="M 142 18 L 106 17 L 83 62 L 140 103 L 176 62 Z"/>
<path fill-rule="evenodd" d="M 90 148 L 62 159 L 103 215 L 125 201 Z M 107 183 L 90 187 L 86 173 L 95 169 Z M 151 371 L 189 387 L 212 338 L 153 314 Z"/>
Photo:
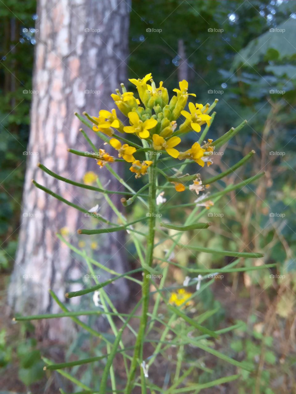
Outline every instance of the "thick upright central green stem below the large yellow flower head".
<path fill-rule="evenodd" d="M 154 250 L 154 235 L 155 235 L 155 211 L 156 211 L 156 163 L 157 157 L 153 158 L 153 164 L 149 167 L 149 228 L 148 228 L 148 238 L 147 238 L 147 248 L 146 248 L 146 266 L 152 266 L 153 260 L 153 250 Z M 131 362 L 131 368 L 129 370 L 129 376 L 127 380 L 127 385 L 125 389 L 125 394 L 130 394 L 133 388 L 133 380 L 135 378 L 135 372 L 138 364 L 138 359 L 140 357 L 141 348 L 144 341 L 144 334 L 147 326 L 147 313 L 149 307 L 149 288 L 150 288 L 150 271 L 144 268 L 144 276 L 142 282 L 142 316 L 140 320 L 140 326 L 138 331 L 138 336 L 135 344 L 135 350 L 133 354 L 133 360 Z"/>

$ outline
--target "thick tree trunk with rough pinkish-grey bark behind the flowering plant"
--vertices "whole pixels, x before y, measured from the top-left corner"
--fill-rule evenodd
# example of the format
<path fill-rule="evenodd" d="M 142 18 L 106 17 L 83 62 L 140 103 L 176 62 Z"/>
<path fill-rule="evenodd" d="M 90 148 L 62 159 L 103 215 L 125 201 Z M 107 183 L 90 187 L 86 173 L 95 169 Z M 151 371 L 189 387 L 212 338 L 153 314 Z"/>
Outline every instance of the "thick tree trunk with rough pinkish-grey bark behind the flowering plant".
<path fill-rule="evenodd" d="M 69 229 L 66 238 L 77 244 L 77 229 L 94 228 L 98 223 L 37 189 L 31 182 L 33 178 L 84 208 L 99 203 L 100 213 L 112 217 L 100 195 L 57 181 L 43 173 L 37 163 L 78 182 L 90 170 L 100 176 L 103 184 L 109 179 L 107 170 L 99 169 L 95 160 L 70 154 L 67 148 L 91 151 L 79 132 L 82 125 L 73 112 L 86 110 L 96 115 L 99 109 L 110 110 L 114 107 L 110 94 L 126 80 L 128 7 L 127 2 L 120 0 L 39 1 L 33 74 L 36 94 L 31 110 L 19 248 L 8 295 L 9 305 L 16 312 L 60 311 L 48 290 L 54 290 L 64 302 L 66 291 L 82 287 L 82 283 L 71 284 L 71 281 L 83 278 L 88 271 L 55 234 L 66 227 Z M 95 133 L 91 137 L 97 147 L 102 147 Z M 118 190 L 119 185 L 112 179 L 108 188 Z M 112 199 L 119 203 L 118 197 Z M 82 237 L 89 242 L 89 238 Z M 94 240 L 98 242 L 94 255 L 99 262 L 116 271 L 126 270 L 122 233 Z M 102 270 L 97 274 L 101 278 L 105 275 Z M 111 290 L 115 303 L 116 298 L 124 301 L 128 296 L 125 281 L 116 282 Z M 74 298 L 71 302 L 80 300 Z M 69 337 L 69 331 L 75 329 L 69 319 L 50 322 L 47 320 L 43 326 L 43 335 L 47 333 L 50 339 L 61 340 L 65 332 Z"/>

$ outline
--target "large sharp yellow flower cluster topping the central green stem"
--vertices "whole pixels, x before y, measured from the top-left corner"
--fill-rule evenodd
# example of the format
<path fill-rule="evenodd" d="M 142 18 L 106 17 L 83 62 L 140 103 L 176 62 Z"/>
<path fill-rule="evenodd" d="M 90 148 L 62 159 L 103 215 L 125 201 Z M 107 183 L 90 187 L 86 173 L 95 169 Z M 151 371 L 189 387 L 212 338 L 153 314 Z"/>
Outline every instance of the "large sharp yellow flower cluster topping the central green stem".
<path fill-rule="evenodd" d="M 151 154 L 161 151 L 179 160 L 193 160 L 201 167 L 204 166 L 205 162 L 207 165 L 211 165 L 212 160 L 208 157 L 214 150 L 214 147 L 211 146 L 211 139 L 208 139 L 208 142 L 205 142 L 203 146 L 195 142 L 185 152 L 176 149 L 176 146 L 181 143 L 180 136 L 182 134 L 190 131 L 199 133 L 202 125 L 210 126 L 212 119 L 208 113 L 210 110 L 209 104 L 204 106 L 189 102 L 189 111 L 185 110 L 188 97 L 196 97 L 194 93 L 188 93 L 188 82 L 186 80 L 180 81 L 179 88 L 173 89 L 175 95 L 169 99 L 168 91 L 163 86 L 163 82 L 161 81 L 159 87 L 157 87 L 151 73 L 146 74 L 142 79 L 133 78 L 129 81 L 136 86 L 139 99 L 135 97 L 133 92 L 127 91 L 124 84 L 121 84 L 122 93 L 119 89 L 116 89 L 116 93 L 111 95 L 118 110 L 128 118 L 129 125 L 122 123 L 115 109 L 112 109 L 111 112 L 100 110 L 98 117 L 92 117 L 94 121 L 93 130 L 102 132 L 109 137 L 113 136 L 115 130 L 122 134 L 134 134 L 139 139 L 148 142 L 150 148 L 146 151 L 150 150 Z M 185 120 L 177 128 L 176 121 L 181 115 Z M 109 139 L 109 144 L 118 151 L 118 157 L 132 163 L 130 171 L 136 173 L 137 178 L 146 174 L 152 162 L 150 160 L 141 162 L 134 157 L 134 154 L 138 154 L 137 148 L 139 145 L 127 141 L 120 135 L 117 135 L 117 138 Z M 97 161 L 97 164 L 100 167 L 103 167 L 107 162 L 118 160 L 103 149 L 100 149 L 99 154 L 101 158 Z M 177 191 L 185 190 L 182 183 L 175 182 L 175 187 Z"/>

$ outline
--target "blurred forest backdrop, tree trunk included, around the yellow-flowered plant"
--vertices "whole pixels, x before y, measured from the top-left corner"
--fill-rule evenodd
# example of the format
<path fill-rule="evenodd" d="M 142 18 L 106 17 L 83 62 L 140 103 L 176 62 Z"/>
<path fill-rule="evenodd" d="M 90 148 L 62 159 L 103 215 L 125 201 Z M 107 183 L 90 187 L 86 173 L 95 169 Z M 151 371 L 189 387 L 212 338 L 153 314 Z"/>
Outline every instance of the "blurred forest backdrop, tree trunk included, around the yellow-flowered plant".
<path fill-rule="evenodd" d="M 200 294 L 197 311 L 219 308 L 208 320 L 210 329 L 244 322 L 244 329 L 226 336 L 219 350 L 258 368 L 243 382 L 203 392 L 296 392 L 296 3 L 41 0 L 36 5 L 33 0 L 22 4 L 6 0 L 0 2 L 0 10 L 0 390 L 56 392 L 52 376 L 47 379 L 43 374 L 40 349 L 48 351 L 52 344 L 74 338 L 67 355 L 84 352 L 85 333 L 77 333 L 75 327 L 57 322 L 54 330 L 49 323 L 11 324 L 11 310 L 23 314 L 58 310 L 48 296 L 49 288 L 63 297 L 65 290 L 84 284 L 79 256 L 60 246 L 56 232 L 75 245 L 82 242 L 79 247 L 110 260 L 118 271 L 137 266 L 135 251 L 126 240 L 113 240 L 112 251 L 96 239 L 77 240 L 81 218 L 37 191 L 31 179 L 72 202 L 95 204 L 99 197 L 77 195 L 71 185 L 39 174 L 36 164 L 42 162 L 78 182 L 94 182 L 96 165 L 86 158 L 73 159 L 66 151 L 89 150 L 73 112 L 86 110 L 97 116 L 99 109 L 113 108 L 110 94 L 120 82 L 134 91 L 127 78 L 152 72 L 156 84 L 163 81 L 170 94 L 186 79 L 197 102 L 219 99 L 209 138 L 248 121 L 214 156 L 214 165 L 202 169 L 203 177 L 225 171 L 252 149 L 256 155 L 227 177 L 226 185 L 262 170 L 266 173 L 259 183 L 221 199 L 211 210 L 215 214 L 211 236 L 202 234 L 193 241 L 215 249 L 263 251 L 265 264 L 277 263 L 272 270 L 227 274 Z M 195 141 L 191 138 L 193 133 L 187 137 L 188 145 Z M 103 184 L 108 182 L 104 171 L 99 176 Z M 132 178 L 131 182 L 139 188 L 139 182 Z M 112 187 L 118 189 L 113 180 L 108 188 Z M 182 193 L 178 197 L 185 199 Z M 133 208 L 133 215 L 143 216 L 141 205 Z M 186 215 L 173 210 L 168 218 L 182 223 Z M 184 251 L 176 262 L 220 268 L 229 261 Z M 242 264 L 263 262 L 245 259 Z M 184 274 L 172 269 L 170 280 L 182 283 Z M 130 295 L 123 281 L 112 296 L 119 305 Z M 30 357 L 20 362 L 22 355 Z M 195 349 L 189 349 L 186 357 L 199 362 L 196 381 L 229 372 L 229 366 Z M 81 381 L 90 381 L 93 373 L 85 370 Z"/>

